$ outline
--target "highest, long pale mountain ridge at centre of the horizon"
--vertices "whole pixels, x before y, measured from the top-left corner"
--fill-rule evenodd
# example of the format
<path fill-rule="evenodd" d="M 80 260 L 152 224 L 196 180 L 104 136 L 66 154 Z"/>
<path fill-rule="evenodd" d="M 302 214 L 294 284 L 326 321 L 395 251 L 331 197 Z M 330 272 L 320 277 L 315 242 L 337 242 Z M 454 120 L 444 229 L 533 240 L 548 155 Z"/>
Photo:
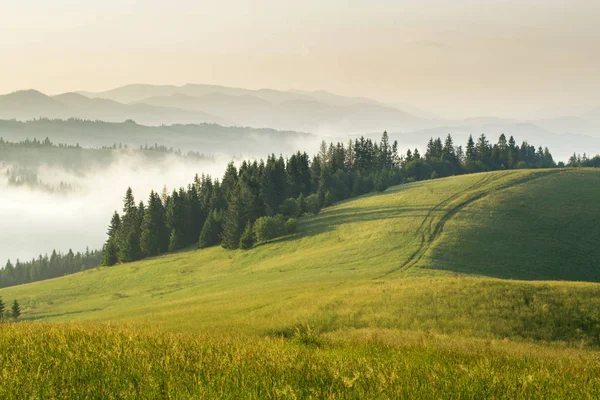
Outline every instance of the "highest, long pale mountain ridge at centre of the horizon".
<path fill-rule="evenodd" d="M 348 133 L 413 130 L 429 121 L 364 97 L 343 97 L 325 91 L 248 90 L 214 85 L 128 85 L 107 92 L 80 92 L 90 98 L 129 105 L 203 112 L 227 125 Z"/>

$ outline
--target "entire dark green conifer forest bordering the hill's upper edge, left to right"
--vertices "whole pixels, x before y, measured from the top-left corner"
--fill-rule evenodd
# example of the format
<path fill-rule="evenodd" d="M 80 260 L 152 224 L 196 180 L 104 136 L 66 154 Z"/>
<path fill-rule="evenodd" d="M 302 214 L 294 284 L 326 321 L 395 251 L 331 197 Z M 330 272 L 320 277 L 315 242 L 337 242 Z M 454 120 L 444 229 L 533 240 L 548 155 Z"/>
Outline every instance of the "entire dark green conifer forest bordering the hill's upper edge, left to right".
<path fill-rule="evenodd" d="M 593 161 L 584 157 L 586 165 Z M 593 158 L 591 160 L 596 160 Z M 573 157 L 569 166 L 579 166 Z M 196 175 L 187 188 L 171 193 L 152 191 L 136 201 L 128 189 L 122 212 L 115 211 L 102 251 L 51 257 L 29 262 L 7 262 L 0 270 L 0 287 L 50 279 L 100 264 L 112 266 L 174 252 L 189 246 L 249 249 L 291 234 L 296 218 L 316 214 L 334 202 L 390 185 L 451 175 L 521 168 L 556 167 L 548 148 L 537 149 L 511 136 L 491 143 L 484 134 L 466 146 L 452 136 L 430 139 L 425 154 L 418 149 L 398 152 L 387 132 L 379 143 L 361 137 L 348 143 L 321 143 L 312 158 L 297 152 L 284 159 L 271 154 L 265 160 L 227 166 L 222 179 Z M 558 166 L 564 166 L 559 163 Z"/>

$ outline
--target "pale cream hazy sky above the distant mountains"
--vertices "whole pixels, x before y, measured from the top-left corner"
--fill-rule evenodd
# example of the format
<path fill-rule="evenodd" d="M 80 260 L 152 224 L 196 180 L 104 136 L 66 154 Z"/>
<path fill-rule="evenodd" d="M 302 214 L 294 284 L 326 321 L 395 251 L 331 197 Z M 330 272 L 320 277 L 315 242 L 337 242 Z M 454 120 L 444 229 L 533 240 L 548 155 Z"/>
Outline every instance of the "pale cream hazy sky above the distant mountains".
<path fill-rule="evenodd" d="M 444 116 L 600 106 L 599 0 L 0 0 L 0 93 L 326 89 Z"/>

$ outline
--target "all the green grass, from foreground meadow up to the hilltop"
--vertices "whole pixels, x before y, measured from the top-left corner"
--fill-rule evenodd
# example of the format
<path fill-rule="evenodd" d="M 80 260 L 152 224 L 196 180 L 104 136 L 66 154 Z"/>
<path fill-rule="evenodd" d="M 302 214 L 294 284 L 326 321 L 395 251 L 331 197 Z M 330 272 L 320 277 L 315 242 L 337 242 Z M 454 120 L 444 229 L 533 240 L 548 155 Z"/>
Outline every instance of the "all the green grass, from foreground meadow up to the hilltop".
<path fill-rule="evenodd" d="M 419 182 L 251 251 L 2 289 L 36 323 L 0 328 L 3 354 L 15 349 L 0 397 L 597 397 L 599 181 L 528 170 Z M 12 365 L 46 375 L 19 386 Z"/>

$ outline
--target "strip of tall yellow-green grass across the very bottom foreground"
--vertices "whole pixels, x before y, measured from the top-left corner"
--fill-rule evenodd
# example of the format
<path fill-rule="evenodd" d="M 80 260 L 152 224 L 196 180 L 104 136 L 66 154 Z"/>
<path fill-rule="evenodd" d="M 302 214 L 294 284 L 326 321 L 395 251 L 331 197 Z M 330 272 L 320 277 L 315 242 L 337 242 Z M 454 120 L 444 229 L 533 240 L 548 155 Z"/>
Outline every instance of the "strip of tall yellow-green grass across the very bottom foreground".
<path fill-rule="evenodd" d="M 342 335 L 343 336 L 343 335 Z M 597 356 L 427 335 L 312 341 L 99 325 L 0 327 L 0 397 L 597 398 Z"/>

